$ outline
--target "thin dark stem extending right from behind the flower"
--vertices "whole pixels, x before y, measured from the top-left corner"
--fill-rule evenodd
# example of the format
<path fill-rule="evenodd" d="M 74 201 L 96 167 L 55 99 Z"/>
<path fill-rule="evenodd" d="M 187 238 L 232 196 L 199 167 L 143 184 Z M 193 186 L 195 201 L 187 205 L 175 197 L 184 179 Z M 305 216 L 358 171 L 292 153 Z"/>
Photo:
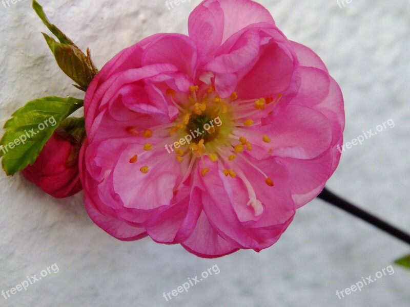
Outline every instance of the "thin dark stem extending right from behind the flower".
<path fill-rule="evenodd" d="M 410 234 L 405 233 L 404 231 L 380 220 L 380 218 L 376 217 L 373 214 L 370 214 L 355 205 L 346 202 L 345 200 L 341 199 L 339 196 L 335 195 L 328 189 L 324 188 L 323 191 L 318 195 L 318 198 L 330 203 L 348 213 L 355 215 L 358 218 L 361 218 L 363 221 L 366 221 L 373 226 L 395 236 L 396 238 L 410 244 Z"/>

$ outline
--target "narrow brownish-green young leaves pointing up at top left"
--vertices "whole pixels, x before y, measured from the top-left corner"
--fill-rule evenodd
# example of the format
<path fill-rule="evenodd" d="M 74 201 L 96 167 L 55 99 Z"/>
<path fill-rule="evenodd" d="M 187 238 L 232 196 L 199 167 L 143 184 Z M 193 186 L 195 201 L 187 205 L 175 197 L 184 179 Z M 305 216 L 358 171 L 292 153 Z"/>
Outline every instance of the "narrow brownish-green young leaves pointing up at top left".
<path fill-rule="evenodd" d="M 78 84 L 73 84 L 75 87 L 86 91 L 91 80 L 98 72 L 91 60 L 90 50 L 87 48 L 87 55 L 85 55 L 70 38 L 50 23 L 42 6 L 35 0 L 33 0 L 33 9 L 47 28 L 59 40 L 59 42 L 57 42 L 54 38 L 43 33 L 58 66 L 67 76 Z"/>

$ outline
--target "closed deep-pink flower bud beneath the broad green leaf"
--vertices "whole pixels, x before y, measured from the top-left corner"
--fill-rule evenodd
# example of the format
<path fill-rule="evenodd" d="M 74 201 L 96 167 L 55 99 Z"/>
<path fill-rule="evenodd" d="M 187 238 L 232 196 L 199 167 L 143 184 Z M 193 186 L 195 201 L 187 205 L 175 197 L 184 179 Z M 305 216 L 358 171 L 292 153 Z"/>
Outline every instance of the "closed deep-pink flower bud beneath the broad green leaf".
<path fill-rule="evenodd" d="M 24 177 L 55 198 L 66 198 L 81 191 L 78 172 L 79 146 L 54 133 Z"/>

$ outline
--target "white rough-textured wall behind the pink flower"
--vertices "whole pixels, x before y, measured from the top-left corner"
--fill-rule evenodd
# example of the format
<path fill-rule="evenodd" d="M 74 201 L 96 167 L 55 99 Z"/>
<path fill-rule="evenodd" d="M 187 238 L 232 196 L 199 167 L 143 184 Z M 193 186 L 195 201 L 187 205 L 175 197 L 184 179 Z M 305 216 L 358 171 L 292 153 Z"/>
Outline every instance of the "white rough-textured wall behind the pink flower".
<path fill-rule="evenodd" d="M 314 49 L 340 83 L 345 142 L 392 118 L 394 128 L 344 152 L 335 192 L 410 231 L 410 4 L 408 0 L 260 0 L 292 40 Z M 97 67 L 157 32 L 187 33 L 199 2 L 40 1 L 49 18 Z M 7 5 L 6 5 L 7 6 Z M 0 122 L 27 101 L 81 93 L 57 68 L 30 1 L 0 4 Z M 1 306 L 408 306 L 410 271 L 386 275 L 339 300 L 343 290 L 409 252 L 396 239 L 315 200 L 273 247 L 200 259 L 146 238 L 122 243 L 96 227 L 82 194 L 55 200 L 20 174 L 0 172 L 0 291 L 57 264 Z M 220 273 L 167 302 L 163 292 L 217 265 Z"/>

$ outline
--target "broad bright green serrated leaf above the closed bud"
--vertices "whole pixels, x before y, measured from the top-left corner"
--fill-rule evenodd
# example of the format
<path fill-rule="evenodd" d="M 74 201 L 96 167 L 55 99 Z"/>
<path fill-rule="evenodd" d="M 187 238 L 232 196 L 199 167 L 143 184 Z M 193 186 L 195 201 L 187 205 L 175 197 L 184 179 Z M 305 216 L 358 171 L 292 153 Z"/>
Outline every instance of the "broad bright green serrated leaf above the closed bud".
<path fill-rule="evenodd" d="M 44 97 L 28 102 L 12 114 L 0 140 L 2 166 L 8 176 L 33 164 L 61 121 L 83 106 L 75 98 Z"/>

